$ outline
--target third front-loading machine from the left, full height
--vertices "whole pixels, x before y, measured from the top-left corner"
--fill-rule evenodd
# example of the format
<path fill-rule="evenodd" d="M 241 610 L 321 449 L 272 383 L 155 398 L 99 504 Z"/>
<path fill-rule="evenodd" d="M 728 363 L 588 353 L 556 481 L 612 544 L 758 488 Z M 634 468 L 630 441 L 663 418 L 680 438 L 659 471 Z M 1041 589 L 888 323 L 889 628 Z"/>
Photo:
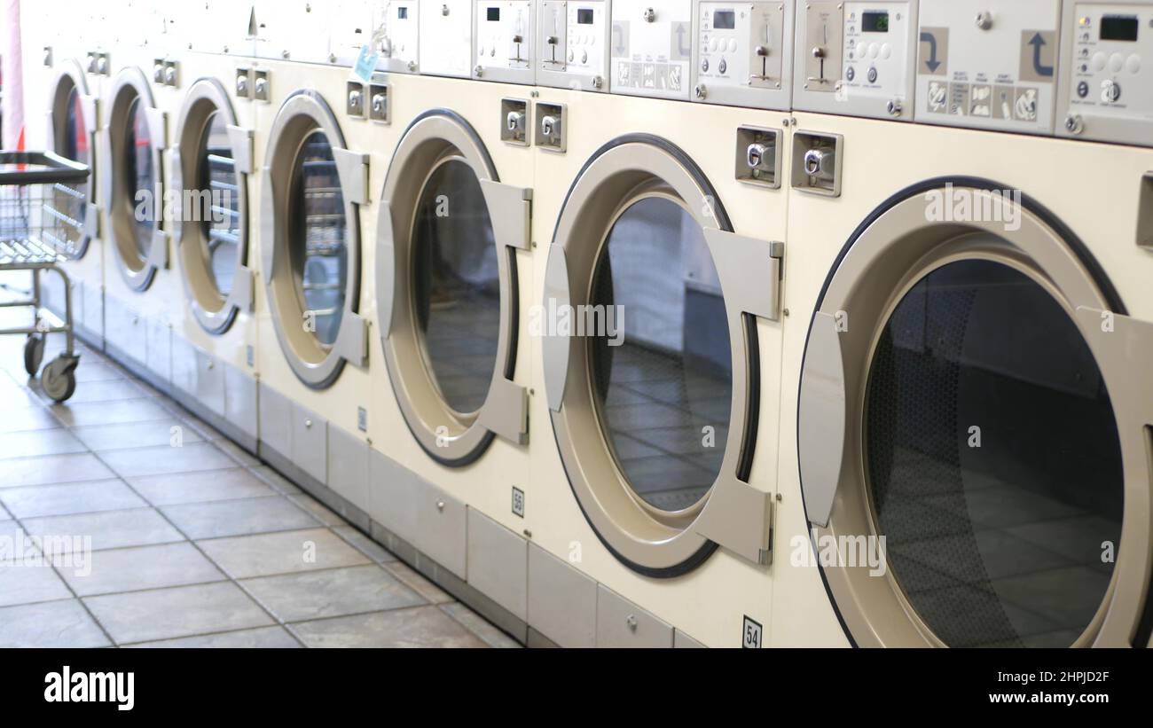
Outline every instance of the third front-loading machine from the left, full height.
<path fill-rule="evenodd" d="M 172 392 L 255 450 L 259 228 L 250 62 L 196 51 L 181 59 L 184 97 L 172 122 L 168 185 L 179 203 L 171 229 L 182 283 L 182 308 L 171 318 Z"/>

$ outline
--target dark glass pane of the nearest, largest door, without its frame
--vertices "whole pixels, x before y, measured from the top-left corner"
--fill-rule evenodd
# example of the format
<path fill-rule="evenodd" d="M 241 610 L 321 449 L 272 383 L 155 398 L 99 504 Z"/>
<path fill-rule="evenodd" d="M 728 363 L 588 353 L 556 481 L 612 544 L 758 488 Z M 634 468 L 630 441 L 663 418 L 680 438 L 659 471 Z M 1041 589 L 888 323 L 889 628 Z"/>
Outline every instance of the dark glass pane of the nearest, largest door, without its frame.
<path fill-rule="evenodd" d="M 1015 267 L 945 264 L 894 309 L 866 392 L 869 499 L 926 627 L 950 646 L 1073 644 L 1108 593 L 1124 486 L 1069 313 Z"/>

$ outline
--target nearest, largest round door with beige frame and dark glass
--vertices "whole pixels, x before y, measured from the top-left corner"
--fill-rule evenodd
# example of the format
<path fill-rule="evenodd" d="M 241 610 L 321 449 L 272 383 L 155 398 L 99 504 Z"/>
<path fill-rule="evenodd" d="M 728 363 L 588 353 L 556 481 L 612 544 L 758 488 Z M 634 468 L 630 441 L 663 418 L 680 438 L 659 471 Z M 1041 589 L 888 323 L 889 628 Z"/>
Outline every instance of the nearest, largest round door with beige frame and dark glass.
<path fill-rule="evenodd" d="M 922 197 L 850 242 L 809 331 L 801 484 L 837 609 L 862 645 L 1093 644 L 1145 538 L 1122 528 L 1145 443 L 1076 316 L 1120 304 L 1027 204 L 1011 232 Z M 817 414 L 835 379 L 843 425 Z"/>

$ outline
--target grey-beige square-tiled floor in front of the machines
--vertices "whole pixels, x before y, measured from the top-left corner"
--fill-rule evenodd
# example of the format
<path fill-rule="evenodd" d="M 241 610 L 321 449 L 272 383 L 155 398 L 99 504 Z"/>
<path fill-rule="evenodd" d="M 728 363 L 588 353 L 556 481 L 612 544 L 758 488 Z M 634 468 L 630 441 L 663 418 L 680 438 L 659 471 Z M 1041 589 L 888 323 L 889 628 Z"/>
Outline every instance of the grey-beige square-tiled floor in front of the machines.
<path fill-rule="evenodd" d="M 515 645 L 100 354 L 50 407 L 22 346 L 0 339 L 0 646 Z M 29 539 L 55 566 L 16 559 Z"/>

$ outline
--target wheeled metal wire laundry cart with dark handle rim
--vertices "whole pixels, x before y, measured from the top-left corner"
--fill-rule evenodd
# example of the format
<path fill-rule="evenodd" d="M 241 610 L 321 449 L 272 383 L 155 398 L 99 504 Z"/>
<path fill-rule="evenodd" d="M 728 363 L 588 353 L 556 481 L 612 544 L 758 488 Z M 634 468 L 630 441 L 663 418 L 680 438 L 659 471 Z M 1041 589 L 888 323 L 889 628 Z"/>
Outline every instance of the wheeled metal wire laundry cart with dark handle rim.
<path fill-rule="evenodd" d="M 76 187 L 88 181 L 86 165 L 51 152 L 0 152 L 0 272 L 30 271 L 29 297 L 0 302 L 3 308 L 32 309 L 32 326 L 0 328 L 2 334 L 24 334 L 24 370 L 35 377 L 44 361 L 44 340 L 48 334 L 65 334 L 63 354 L 44 366 L 40 387 L 56 402 L 76 390 L 76 364 L 73 350 L 71 286 L 60 264 L 76 256 L 69 230 L 81 220 L 69 215 Z M 55 271 L 63 282 L 65 320 L 52 325 L 40 308 L 40 273 Z M 53 320 L 54 317 L 53 317 Z"/>

